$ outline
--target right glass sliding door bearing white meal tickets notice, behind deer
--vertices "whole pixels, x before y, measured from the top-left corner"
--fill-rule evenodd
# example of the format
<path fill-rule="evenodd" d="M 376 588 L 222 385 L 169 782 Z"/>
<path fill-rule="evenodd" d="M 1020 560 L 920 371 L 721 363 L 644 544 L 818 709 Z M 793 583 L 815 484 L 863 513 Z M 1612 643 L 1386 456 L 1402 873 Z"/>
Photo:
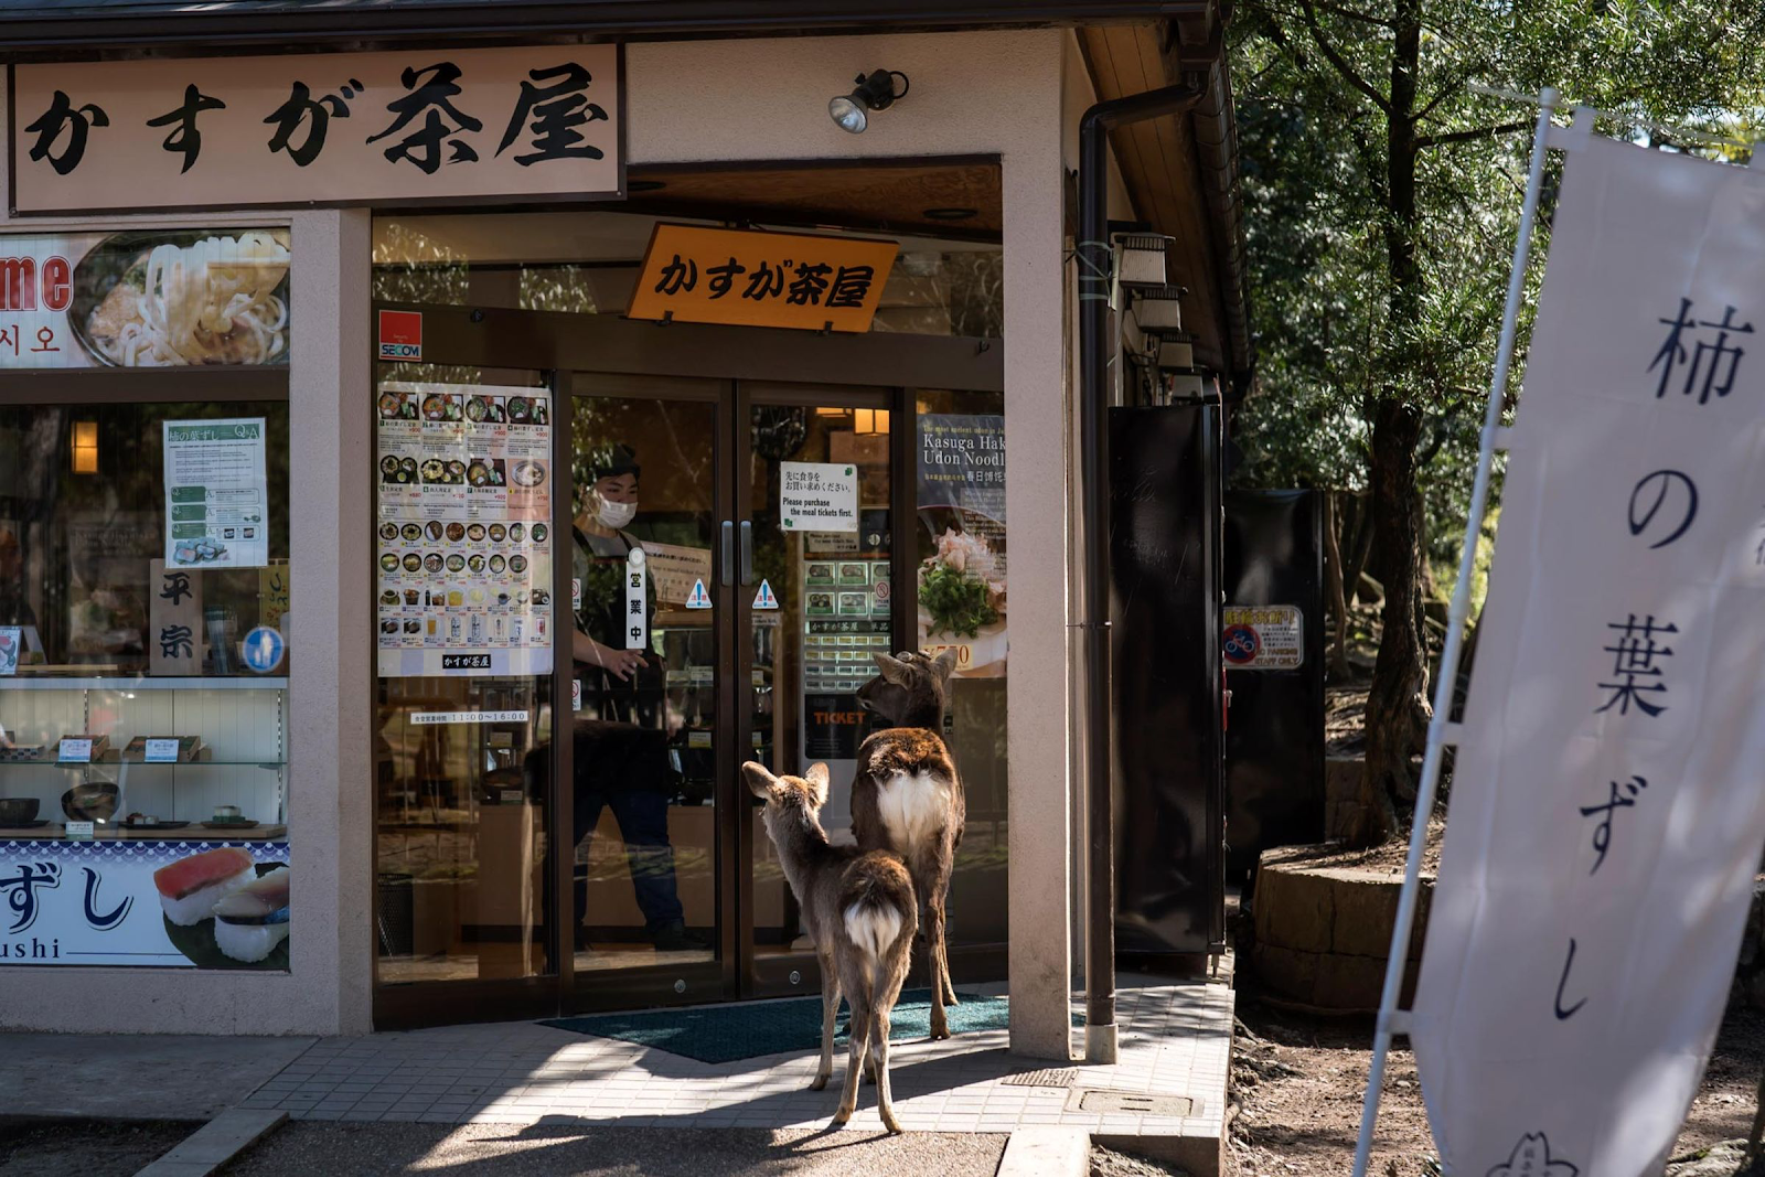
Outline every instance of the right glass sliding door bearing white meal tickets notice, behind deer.
<path fill-rule="evenodd" d="M 868 732 L 858 688 L 875 674 L 872 653 L 897 641 L 891 402 L 882 388 L 761 383 L 743 383 L 738 399 L 747 743 L 775 773 L 828 764 L 821 821 L 835 843 L 852 838 L 852 768 Z M 745 808 L 750 988 L 814 992 L 801 912 L 757 803 Z"/>

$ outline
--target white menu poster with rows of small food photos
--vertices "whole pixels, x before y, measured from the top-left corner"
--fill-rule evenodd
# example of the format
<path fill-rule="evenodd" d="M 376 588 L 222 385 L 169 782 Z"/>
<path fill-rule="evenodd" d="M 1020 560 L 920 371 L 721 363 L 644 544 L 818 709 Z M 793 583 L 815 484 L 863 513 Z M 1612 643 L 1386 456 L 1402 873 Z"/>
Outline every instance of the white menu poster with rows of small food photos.
<path fill-rule="evenodd" d="M 551 408 L 533 388 L 379 386 L 381 678 L 551 674 Z"/>

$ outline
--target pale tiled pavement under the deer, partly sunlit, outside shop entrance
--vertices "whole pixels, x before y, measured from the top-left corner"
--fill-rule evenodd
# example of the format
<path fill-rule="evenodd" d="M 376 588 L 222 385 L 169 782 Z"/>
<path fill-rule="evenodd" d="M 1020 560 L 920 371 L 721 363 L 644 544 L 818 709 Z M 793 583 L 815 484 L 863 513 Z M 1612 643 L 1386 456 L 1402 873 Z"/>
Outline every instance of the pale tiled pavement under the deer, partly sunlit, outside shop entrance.
<path fill-rule="evenodd" d="M 1008 1133 L 1055 1124 L 1107 1136 L 1216 1140 L 1232 1008 L 1223 985 L 1123 988 L 1121 1061 L 1075 1064 L 1070 1087 L 1006 1083 L 1050 1064 L 1011 1057 L 1004 1031 L 897 1041 L 890 1052 L 895 1110 L 907 1131 Z M 821 1128 L 833 1115 L 845 1055 L 835 1053 L 833 1080 L 819 1092 L 808 1091 L 815 1062 L 815 1053 L 796 1052 L 704 1064 L 531 1022 L 459 1025 L 319 1039 L 242 1106 L 316 1121 Z M 1197 1106 L 1183 1119 L 1078 1112 L 1070 1110 L 1078 1106 L 1071 1089 L 1179 1094 Z M 852 1126 L 881 1128 L 874 1087 L 860 1089 Z"/>

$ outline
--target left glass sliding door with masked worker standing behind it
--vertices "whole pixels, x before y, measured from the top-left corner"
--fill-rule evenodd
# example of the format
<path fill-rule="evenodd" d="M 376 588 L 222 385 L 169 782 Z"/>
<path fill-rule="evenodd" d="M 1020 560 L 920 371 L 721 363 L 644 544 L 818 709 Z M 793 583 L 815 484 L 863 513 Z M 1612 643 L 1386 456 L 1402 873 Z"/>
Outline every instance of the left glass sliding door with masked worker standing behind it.
<path fill-rule="evenodd" d="M 575 374 L 570 432 L 570 948 L 584 1004 L 632 978 L 722 993 L 732 780 L 725 381 Z"/>

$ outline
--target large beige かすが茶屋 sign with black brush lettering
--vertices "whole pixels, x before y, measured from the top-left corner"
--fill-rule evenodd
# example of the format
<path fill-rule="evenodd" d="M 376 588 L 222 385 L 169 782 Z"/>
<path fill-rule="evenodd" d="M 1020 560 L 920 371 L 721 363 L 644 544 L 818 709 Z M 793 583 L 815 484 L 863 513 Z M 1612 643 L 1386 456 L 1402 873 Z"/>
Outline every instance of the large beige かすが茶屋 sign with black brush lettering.
<path fill-rule="evenodd" d="M 611 44 L 12 67 L 19 214 L 620 196 Z"/>

